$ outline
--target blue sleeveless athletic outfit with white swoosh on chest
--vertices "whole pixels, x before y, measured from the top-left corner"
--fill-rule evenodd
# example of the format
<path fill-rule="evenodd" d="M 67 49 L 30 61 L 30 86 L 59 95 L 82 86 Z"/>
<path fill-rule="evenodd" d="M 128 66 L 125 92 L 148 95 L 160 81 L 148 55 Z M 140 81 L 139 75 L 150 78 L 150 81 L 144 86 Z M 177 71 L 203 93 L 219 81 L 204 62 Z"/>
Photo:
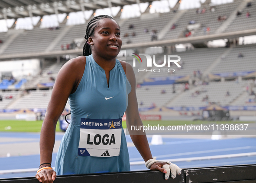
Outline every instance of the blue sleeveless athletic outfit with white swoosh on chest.
<path fill-rule="evenodd" d="M 122 118 L 130 91 L 131 85 L 119 60 L 116 60 L 116 65 L 110 70 L 108 86 L 104 69 L 95 62 L 92 55 L 86 57 L 82 79 L 75 93 L 69 96 L 71 123 L 58 149 L 55 162 L 57 175 L 130 171 L 130 158 L 123 129 L 119 156 L 78 156 L 81 118 Z M 106 100 L 110 97 L 113 98 Z"/>

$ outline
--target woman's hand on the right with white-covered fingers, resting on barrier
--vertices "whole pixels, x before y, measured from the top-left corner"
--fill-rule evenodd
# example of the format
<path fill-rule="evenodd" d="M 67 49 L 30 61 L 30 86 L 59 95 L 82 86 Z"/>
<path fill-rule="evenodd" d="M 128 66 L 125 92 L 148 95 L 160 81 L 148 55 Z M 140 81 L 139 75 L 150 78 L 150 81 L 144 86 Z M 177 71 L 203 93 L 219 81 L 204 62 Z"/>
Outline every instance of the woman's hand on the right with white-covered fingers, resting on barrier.
<path fill-rule="evenodd" d="M 167 164 L 165 162 L 156 162 L 150 166 L 152 171 L 160 171 L 165 174 L 165 180 L 169 179 L 170 173 L 171 177 L 174 179 L 176 174 L 181 174 L 181 168 L 176 164 Z"/>

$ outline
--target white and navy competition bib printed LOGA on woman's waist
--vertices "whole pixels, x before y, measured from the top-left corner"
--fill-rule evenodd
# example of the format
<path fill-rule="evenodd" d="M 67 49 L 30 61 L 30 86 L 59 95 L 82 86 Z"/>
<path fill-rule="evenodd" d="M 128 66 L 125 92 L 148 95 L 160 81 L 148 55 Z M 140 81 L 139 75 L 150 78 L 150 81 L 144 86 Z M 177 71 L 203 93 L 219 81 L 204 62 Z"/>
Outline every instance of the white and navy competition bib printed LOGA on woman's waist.
<path fill-rule="evenodd" d="M 122 119 L 81 118 L 78 156 L 119 156 Z"/>

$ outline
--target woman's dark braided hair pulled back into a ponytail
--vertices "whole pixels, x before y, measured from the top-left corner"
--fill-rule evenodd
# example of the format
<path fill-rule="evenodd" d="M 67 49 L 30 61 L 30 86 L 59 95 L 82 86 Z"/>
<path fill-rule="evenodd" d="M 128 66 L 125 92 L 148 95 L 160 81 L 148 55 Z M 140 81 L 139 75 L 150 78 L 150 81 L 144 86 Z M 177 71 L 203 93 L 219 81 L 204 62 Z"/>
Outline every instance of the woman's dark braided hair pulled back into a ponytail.
<path fill-rule="evenodd" d="M 93 19 L 90 20 L 90 22 L 87 24 L 86 34 L 84 36 L 86 41 L 84 43 L 83 56 L 91 55 L 91 45 L 88 44 L 87 40 L 88 40 L 89 37 L 94 35 L 94 28 L 97 27 L 98 22 L 99 22 L 100 19 L 113 19 L 113 18 L 111 16 L 108 16 L 108 15 L 99 15 L 99 16 L 95 16 Z"/>

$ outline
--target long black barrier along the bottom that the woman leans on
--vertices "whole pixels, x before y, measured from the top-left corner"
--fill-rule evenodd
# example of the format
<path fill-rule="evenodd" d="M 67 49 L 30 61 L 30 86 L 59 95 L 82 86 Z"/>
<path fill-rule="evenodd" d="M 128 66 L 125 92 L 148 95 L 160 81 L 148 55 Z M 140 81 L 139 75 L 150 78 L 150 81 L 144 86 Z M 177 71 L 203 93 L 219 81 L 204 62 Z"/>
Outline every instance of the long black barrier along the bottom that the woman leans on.
<path fill-rule="evenodd" d="M 35 177 L 0 179 L 0 183 L 39 183 Z M 256 164 L 185 168 L 175 179 L 159 171 L 62 175 L 54 183 L 256 183 Z"/>

